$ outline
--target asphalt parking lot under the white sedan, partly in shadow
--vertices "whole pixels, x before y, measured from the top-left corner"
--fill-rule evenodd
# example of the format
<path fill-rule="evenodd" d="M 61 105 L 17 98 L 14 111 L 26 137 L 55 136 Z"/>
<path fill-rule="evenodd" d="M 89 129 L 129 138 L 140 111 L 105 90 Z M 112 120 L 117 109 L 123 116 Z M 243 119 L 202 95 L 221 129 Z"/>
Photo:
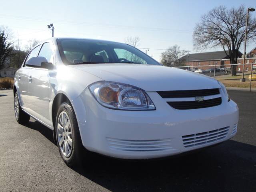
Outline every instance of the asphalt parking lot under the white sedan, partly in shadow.
<path fill-rule="evenodd" d="M 123 161 L 94 155 L 71 169 L 50 129 L 14 118 L 12 90 L 0 91 L 0 191 L 256 191 L 256 92 L 229 91 L 240 108 L 234 138 L 176 158 Z"/>

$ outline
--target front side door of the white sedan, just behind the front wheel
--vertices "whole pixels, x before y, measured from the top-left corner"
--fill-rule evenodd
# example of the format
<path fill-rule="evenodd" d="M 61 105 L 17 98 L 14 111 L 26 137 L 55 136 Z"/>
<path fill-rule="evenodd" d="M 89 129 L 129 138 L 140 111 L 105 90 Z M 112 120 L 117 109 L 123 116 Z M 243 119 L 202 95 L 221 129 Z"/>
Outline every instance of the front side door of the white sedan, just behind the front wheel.
<path fill-rule="evenodd" d="M 54 64 L 52 42 L 42 44 L 38 56 L 45 57 L 48 62 Z M 32 82 L 29 87 L 29 92 L 31 92 L 29 108 L 32 110 L 34 117 L 50 125 L 49 91 L 51 89 L 49 70 L 33 67 L 30 78 Z"/>

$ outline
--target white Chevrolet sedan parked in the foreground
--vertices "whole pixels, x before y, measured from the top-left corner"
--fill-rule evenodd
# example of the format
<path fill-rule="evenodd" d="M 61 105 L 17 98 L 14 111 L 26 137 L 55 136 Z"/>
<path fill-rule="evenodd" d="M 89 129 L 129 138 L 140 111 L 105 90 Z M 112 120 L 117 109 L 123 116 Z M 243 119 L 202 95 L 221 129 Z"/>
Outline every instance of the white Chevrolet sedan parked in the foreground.
<path fill-rule="evenodd" d="M 18 123 L 54 133 L 68 166 L 88 151 L 148 159 L 232 138 L 238 107 L 217 80 L 165 67 L 127 44 L 51 38 L 36 45 L 14 79 Z"/>

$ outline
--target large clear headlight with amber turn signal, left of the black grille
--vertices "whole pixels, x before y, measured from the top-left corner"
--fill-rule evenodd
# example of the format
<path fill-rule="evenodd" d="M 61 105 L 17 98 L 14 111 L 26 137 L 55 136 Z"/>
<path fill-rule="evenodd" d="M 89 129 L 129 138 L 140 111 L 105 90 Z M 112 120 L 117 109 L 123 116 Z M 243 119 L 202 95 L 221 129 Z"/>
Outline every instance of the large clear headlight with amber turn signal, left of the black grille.
<path fill-rule="evenodd" d="M 100 81 L 89 86 L 96 100 L 107 108 L 120 110 L 155 110 L 152 100 L 140 88 L 115 82 Z"/>

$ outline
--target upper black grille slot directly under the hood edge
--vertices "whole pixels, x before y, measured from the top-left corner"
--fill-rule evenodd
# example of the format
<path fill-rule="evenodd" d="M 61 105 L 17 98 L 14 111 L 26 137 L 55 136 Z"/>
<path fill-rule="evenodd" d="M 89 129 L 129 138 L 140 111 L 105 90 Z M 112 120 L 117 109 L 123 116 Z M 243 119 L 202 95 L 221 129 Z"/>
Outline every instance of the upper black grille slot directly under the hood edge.
<path fill-rule="evenodd" d="M 182 91 L 158 91 L 162 98 L 185 98 L 196 96 L 209 96 L 220 94 L 220 90 L 216 89 L 199 89 L 199 90 L 182 90 Z"/>

